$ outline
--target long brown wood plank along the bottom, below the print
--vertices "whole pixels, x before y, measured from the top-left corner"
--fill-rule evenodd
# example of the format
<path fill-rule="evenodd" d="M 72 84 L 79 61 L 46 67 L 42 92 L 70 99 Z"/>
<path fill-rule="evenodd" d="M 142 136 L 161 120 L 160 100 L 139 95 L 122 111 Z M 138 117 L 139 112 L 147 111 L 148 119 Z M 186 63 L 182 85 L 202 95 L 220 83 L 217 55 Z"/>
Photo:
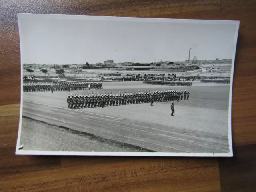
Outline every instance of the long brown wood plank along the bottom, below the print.
<path fill-rule="evenodd" d="M 65 159 L 66 157 L 63 157 Z M 104 157 L 101 157 L 104 159 Z M 6 191 L 220 191 L 217 159 L 126 158 L 56 170 L 13 174 Z M 80 157 L 74 158 L 79 161 Z M 106 158 L 105 158 L 106 159 Z M 91 158 L 93 160 L 93 158 Z M 73 162 L 73 160 L 72 160 Z M 0 187 L 1 188 L 1 187 Z"/>

